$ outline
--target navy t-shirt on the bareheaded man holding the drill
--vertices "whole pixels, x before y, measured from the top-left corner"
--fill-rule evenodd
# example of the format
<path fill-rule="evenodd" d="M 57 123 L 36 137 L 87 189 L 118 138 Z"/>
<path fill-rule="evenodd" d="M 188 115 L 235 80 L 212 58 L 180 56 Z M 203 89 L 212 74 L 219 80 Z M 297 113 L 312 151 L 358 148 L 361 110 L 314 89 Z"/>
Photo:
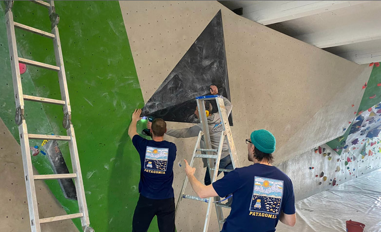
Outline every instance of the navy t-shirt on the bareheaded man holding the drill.
<path fill-rule="evenodd" d="M 133 146 L 140 155 L 140 194 L 150 199 L 174 197 L 172 183 L 176 145 L 168 141 L 156 142 L 134 135 Z"/>

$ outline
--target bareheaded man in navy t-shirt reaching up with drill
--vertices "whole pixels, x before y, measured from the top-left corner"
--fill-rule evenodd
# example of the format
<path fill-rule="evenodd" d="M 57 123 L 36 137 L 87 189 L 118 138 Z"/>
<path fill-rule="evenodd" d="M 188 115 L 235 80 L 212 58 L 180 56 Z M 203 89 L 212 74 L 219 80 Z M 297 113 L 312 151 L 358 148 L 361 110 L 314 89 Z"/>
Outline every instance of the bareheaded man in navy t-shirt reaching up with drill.
<path fill-rule="evenodd" d="M 164 141 L 167 124 L 163 119 L 153 120 L 152 140 L 140 137 L 136 123 L 141 109 L 135 109 L 128 135 L 140 156 L 139 200 L 133 213 L 133 232 L 146 232 L 152 218 L 157 216 L 160 232 L 174 232 L 173 162 L 176 145 Z"/>

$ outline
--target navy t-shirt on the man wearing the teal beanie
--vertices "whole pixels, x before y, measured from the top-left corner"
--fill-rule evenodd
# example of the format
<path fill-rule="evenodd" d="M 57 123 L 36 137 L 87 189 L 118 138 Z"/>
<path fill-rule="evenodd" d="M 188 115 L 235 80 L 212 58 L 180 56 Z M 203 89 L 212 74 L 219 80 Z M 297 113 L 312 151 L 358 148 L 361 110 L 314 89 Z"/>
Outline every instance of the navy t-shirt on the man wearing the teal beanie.
<path fill-rule="evenodd" d="M 237 168 L 212 185 L 220 197 L 233 193 L 222 232 L 274 232 L 281 211 L 295 213 L 292 182 L 274 166 Z"/>

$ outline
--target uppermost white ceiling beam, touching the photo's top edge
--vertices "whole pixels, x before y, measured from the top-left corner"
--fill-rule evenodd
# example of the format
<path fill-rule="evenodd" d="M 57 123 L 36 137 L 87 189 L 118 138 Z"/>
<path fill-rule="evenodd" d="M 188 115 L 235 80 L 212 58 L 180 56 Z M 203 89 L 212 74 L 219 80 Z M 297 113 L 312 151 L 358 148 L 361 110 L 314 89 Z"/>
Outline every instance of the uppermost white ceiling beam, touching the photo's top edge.
<path fill-rule="evenodd" d="M 249 20 L 256 21 L 263 25 L 276 22 L 288 21 L 302 18 L 309 15 L 332 11 L 348 6 L 362 4 L 368 1 L 252 1 L 253 4 L 243 6 L 243 15 Z"/>

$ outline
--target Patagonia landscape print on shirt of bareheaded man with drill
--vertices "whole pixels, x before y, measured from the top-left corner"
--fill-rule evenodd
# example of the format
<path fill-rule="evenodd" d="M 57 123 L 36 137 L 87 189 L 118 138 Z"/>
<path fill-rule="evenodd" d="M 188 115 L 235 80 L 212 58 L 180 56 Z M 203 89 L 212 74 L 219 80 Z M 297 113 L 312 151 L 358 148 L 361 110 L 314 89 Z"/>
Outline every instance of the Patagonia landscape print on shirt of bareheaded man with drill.
<path fill-rule="evenodd" d="M 169 148 L 146 148 L 144 171 L 156 174 L 165 174 L 168 163 Z"/>

